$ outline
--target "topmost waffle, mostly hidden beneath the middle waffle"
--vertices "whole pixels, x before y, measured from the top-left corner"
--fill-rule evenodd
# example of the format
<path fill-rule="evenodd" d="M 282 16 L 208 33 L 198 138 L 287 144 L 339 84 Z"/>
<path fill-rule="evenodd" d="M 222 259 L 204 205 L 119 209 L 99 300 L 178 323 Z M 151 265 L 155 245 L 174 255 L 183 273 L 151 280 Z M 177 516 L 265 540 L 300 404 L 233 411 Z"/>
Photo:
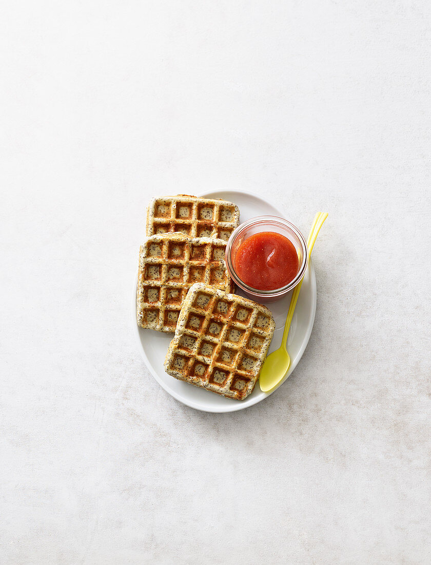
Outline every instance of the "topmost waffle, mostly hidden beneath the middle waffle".
<path fill-rule="evenodd" d="M 238 206 L 220 199 L 178 194 L 153 198 L 147 208 L 147 236 L 181 232 L 227 241 L 238 225 Z"/>

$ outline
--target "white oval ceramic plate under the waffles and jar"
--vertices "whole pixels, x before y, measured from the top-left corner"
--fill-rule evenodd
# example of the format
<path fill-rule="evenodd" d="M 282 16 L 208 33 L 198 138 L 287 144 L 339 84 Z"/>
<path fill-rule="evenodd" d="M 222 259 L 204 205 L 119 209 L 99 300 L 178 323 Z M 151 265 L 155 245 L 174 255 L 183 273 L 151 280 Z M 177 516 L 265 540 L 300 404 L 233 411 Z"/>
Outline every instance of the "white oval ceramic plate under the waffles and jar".
<path fill-rule="evenodd" d="M 283 212 L 275 203 L 262 200 L 258 196 L 239 190 L 216 190 L 214 192 L 206 192 L 200 194 L 206 198 L 223 198 L 231 202 L 235 202 L 240 210 L 240 222 L 253 218 L 254 216 L 272 215 L 282 216 Z M 289 219 L 289 218 L 287 218 Z M 136 322 L 136 287 L 138 284 L 138 276 L 135 279 L 133 292 L 133 324 L 138 338 L 138 347 L 147 367 L 151 371 L 156 381 L 168 392 L 187 406 L 203 410 L 205 412 L 234 412 L 235 410 L 243 410 L 248 406 L 252 406 L 257 402 L 265 399 L 272 393 L 263 393 L 257 382 L 252 394 L 245 400 L 238 401 L 231 398 L 225 398 L 214 394 L 197 386 L 178 381 L 167 375 L 163 366 L 166 351 L 168 351 L 169 342 L 173 334 L 156 332 L 152 329 L 142 329 Z M 241 292 L 239 292 L 241 294 Z M 287 316 L 289 303 L 291 301 L 291 293 L 279 302 L 267 304 L 275 319 L 275 332 L 272 338 L 270 352 L 280 346 L 282 339 L 284 321 Z M 313 329 L 314 315 L 316 313 L 316 277 L 314 267 L 311 260 L 305 273 L 304 282 L 302 283 L 301 293 L 298 298 L 296 309 L 293 315 L 291 330 L 287 340 L 288 351 L 291 357 L 291 366 L 281 381 L 281 386 L 289 377 L 298 361 L 301 359 L 305 351 L 311 330 Z M 277 387 L 278 388 L 278 387 Z M 276 390 L 276 389 L 275 389 Z M 274 390 L 272 391 L 274 392 Z"/>

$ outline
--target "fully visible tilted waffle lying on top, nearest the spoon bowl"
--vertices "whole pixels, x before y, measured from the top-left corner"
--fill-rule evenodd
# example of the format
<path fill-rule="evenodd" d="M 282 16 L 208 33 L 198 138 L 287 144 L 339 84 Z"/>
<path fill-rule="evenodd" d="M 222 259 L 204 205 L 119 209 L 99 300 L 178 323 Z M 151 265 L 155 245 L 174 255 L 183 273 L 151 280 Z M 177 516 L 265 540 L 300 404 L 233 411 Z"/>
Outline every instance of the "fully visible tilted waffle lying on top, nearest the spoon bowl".
<path fill-rule="evenodd" d="M 165 370 L 175 379 L 243 400 L 256 385 L 274 329 L 265 306 L 194 284 L 183 302 Z"/>

